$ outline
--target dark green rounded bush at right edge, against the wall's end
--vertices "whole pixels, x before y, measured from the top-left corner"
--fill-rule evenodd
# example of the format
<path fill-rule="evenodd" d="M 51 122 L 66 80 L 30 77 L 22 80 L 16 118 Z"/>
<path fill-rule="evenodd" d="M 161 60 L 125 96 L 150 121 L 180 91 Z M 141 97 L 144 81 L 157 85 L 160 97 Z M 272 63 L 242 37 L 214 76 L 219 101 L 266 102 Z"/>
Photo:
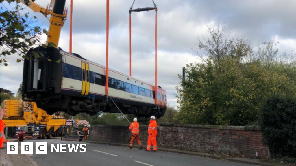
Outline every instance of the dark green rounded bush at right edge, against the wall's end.
<path fill-rule="evenodd" d="M 261 110 L 260 126 L 271 156 L 296 157 L 296 100 L 272 97 Z"/>

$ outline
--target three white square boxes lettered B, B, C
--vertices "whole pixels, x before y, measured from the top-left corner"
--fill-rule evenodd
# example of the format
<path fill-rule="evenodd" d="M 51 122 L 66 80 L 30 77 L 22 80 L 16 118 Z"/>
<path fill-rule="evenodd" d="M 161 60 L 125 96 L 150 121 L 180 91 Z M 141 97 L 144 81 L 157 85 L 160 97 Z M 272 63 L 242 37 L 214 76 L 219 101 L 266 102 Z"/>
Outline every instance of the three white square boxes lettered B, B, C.
<path fill-rule="evenodd" d="M 33 142 L 21 142 L 21 154 L 33 154 Z M 19 154 L 18 142 L 7 142 L 7 154 Z M 47 143 L 36 142 L 35 154 L 47 154 Z"/>

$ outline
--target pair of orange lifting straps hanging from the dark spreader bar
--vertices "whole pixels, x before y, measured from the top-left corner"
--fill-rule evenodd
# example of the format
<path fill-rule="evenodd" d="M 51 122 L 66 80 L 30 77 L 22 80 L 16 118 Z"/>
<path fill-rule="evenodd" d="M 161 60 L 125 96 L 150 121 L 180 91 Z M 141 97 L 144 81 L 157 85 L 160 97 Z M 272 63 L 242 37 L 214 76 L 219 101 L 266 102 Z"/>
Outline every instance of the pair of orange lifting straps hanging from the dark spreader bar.
<path fill-rule="evenodd" d="M 130 51 L 130 76 L 131 76 L 131 12 L 144 12 L 144 11 L 150 11 L 150 10 L 155 10 L 155 105 L 157 104 L 157 6 L 152 0 L 154 7 L 146 7 L 146 8 L 138 8 L 138 9 L 133 9 L 133 4 L 135 3 L 135 0 L 133 1 L 133 4 L 130 7 L 129 13 L 129 51 Z"/>

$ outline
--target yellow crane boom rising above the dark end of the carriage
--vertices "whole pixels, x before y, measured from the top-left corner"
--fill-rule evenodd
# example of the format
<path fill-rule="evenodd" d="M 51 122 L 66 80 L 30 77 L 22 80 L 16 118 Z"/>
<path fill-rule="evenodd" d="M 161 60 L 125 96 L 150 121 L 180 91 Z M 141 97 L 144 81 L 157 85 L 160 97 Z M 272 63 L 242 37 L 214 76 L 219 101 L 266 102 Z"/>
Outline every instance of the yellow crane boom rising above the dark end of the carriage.
<path fill-rule="evenodd" d="M 42 13 L 45 17 L 51 15 L 46 44 L 49 45 L 49 43 L 53 43 L 54 46 L 57 47 L 59 44 L 59 36 L 65 18 L 67 17 L 67 10 L 65 10 L 66 0 L 51 0 L 50 5 L 47 5 L 46 8 L 43 8 L 32 0 L 18 0 L 18 2 L 25 4 L 34 12 Z"/>

